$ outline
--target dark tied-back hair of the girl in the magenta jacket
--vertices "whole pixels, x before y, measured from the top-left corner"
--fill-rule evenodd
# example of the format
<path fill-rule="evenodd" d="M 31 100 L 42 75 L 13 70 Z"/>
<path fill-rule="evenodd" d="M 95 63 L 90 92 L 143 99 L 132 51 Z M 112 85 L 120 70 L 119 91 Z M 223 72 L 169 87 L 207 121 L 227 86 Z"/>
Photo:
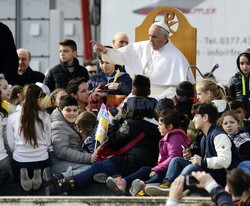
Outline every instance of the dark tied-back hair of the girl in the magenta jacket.
<path fill-rule="evenodd" d="M 185 114 L 171 112 L 167 114 L 166 116 L 160 116 L 159 122 L 162 122 L 165 126 L 172 124 L 174 129 L 182 128 L 186 130 L 186 128 L 189 125 L 190 119 Z"/>

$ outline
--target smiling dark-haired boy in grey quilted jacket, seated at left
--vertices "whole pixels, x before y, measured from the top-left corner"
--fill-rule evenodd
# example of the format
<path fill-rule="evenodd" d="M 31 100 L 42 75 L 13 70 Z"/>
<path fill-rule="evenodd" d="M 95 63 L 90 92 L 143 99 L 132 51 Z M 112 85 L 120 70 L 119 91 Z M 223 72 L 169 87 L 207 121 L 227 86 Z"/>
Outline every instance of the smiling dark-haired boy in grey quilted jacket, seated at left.
<path fill-rule="evenodd" d="M 97 156 L 82 152 L 83 140 L 75 128 L 78 116 L 77 100 L 72 96 L 62 96 L 51 114 L 51 153 L 52 172 L 65 172 L 69 167 L 72 172 L 90 167 Z"/>

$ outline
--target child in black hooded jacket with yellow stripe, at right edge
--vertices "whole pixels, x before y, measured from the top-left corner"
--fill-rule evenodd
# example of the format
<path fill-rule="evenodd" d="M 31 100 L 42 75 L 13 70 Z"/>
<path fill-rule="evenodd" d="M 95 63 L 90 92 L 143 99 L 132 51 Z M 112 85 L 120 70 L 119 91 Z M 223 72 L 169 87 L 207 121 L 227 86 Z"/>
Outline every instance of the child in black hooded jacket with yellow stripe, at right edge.
<path fill-rule="evenodd" d="M 234 99 L 242 102 L 247 118 L 250 111 L 250 49 L 242 52 L 236 60 L 239 72 L 229 80 L 228 87 Z"/>

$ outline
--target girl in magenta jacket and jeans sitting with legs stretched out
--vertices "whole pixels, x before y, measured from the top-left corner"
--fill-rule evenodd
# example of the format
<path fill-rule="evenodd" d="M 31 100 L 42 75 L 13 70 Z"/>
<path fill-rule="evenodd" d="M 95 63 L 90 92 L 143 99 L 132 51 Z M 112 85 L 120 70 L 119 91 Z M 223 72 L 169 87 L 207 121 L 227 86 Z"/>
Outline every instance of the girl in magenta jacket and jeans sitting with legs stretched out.
<path fill-rule="evenodd" d="M 183 148 L 187 148 L 190 143 L 189 137 L 181 129 L 187 127 L 188 124 L 189 118 L 176 112 L 160 117 L 158 129 L 163 138 L 159 142 L 161 159 L 158 165 L 153 168 L 142 167 L 123 179 L 121 177 L 109 177 L 107 179 L 108 187 L 115 192 L 124 193 L 132 183 L 129 191 L 132 196 L 135 196 L 145 188 L 145 184 L 162 182 L 171 159 L 182 156 Z"/>

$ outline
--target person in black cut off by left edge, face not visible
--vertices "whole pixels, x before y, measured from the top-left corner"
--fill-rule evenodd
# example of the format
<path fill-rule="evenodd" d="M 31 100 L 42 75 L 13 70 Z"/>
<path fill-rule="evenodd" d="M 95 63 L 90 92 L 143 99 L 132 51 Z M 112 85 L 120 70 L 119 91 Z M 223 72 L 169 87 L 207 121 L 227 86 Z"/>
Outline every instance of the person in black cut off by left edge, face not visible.
<path fill-rule="evenodd" d="M 16 45 L 10 29 L 0 22 L 0 73 L 3 73 L 9 84 L 16 83 L 18 56 Z"/>

